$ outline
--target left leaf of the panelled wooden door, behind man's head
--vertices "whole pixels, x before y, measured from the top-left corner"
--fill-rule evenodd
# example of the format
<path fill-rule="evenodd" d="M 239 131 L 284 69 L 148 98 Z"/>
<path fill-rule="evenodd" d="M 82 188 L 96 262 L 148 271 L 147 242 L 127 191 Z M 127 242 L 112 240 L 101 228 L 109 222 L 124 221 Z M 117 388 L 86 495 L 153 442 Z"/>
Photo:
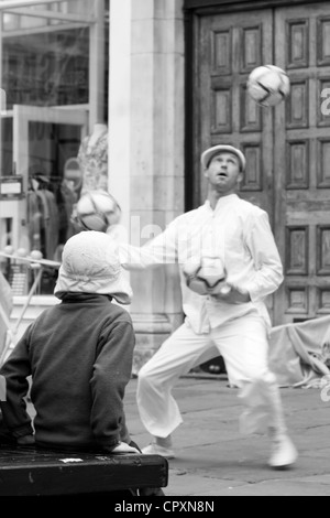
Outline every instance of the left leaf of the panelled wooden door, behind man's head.
<path fill-rule="evenodd" d="M 201 204 L 207 194 L 207 183 L 200 174 L 201 151 L 230 143 L 246 157 L 241 197 L 267 211 L 273 222 L 274 114 L 257 106 L 246 93 L 251 71 L 273 63 L 273 11 L 204 17 L 199 42 L 195 204 Z M 273 301 L 268 302 L 272 310 Z"/>

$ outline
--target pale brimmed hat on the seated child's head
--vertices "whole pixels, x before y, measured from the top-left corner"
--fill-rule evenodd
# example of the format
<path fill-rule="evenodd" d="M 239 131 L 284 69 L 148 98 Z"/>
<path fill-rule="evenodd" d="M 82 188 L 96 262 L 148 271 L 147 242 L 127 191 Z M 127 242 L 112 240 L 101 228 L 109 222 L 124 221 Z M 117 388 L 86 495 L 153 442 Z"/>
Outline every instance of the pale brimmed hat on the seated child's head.
<path fill-rule="evenodd" d="M 99 231 L 81 231 L 65 244 L 54 290 L 58 299 L 66 293 L 98 293 L 130 304 L 132 289 L 124 279 L 118 247 Z"/>

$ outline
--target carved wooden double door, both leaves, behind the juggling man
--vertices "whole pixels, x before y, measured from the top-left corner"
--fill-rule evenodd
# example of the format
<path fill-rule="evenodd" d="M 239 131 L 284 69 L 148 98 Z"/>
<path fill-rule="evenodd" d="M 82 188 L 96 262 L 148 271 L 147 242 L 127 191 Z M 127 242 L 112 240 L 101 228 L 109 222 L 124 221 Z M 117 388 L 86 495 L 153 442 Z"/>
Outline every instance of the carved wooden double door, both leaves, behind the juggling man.
<path fill-rule="evenodd" d="M 195 33 L 194 203 L 206 197 L 201 151 L 239 147 L 240 195 L 268 213 L 284 265 L 273 324 L 330 314 L 330 4 L 206 14 Z M 271 109 L 246 95 L 250 72 L 267 63 L 292 80 Z"/>

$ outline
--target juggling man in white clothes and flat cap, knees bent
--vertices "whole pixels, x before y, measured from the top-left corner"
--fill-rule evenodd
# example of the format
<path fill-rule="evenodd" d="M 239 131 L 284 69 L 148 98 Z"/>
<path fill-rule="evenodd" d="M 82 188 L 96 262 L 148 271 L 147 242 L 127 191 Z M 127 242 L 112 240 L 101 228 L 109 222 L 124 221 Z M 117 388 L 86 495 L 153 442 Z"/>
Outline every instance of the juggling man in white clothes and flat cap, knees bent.
<path fill-rule="evenodd" d="M 138 406 L 153 436 L 143 452 L 175 456 L 172 434 L 183 422 L 172 390 L 191 368 L 220 354 L 244 404 L 241 430 L 264 432 L 273 468 L 293 465 L 297 451 L 287 434 L 279 389 L 268 368 L 270 315 L 265 299 L 283 282 L 283 267 L 267 214 L 243 201 L 238 187 L 245 157 L 232 145 L 201 154 L 208 181 L 205 204 L 174 219 L 144 247 L 121 245 L 128 269 L 178 262 L 184 324 L 139 373 Z M 111 231 L 111 230 L 110 230 Z M 202 276 L 207 281 L 202 291 Z M 215 282 L 215 276 L 221 282 Z M 215 289 L 212 290 L 212 285 Z"/>

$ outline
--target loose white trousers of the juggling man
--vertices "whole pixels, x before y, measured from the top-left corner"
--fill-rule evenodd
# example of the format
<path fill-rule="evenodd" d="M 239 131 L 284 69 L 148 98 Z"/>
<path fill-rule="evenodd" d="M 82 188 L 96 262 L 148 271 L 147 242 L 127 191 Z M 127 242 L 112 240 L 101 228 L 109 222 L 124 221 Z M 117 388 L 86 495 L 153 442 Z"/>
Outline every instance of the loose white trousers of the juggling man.
<path fill-rule="evenodd" d="M 173 387 L 182 375 L 218 354 L 230 381 L 240 388 L 245 407 L 241 431 L 263 433 L 268 428 L 285 433 L 279 389 L 268 369 L 267 327 L 252 312 L 208 334 L 196 334 L 184 323 L 142 367 L 136 400 L 142 423 L 152 435 L 166 438 L 183 422 Z"/>

